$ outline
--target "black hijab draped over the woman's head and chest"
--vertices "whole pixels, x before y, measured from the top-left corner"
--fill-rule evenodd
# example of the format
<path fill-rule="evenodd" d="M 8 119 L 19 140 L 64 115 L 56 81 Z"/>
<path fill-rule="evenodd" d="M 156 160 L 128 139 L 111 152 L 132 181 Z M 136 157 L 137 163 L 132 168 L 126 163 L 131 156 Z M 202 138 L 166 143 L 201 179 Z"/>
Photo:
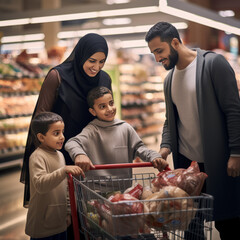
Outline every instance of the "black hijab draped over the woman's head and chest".
<path fill-rule="evenodd" d="M 107 42 L 102 36 L 89 33 L 78 41 L 66 61 L 55 67 L 61 76 L 59 97 L 68 105 L 71 117 L 78 123 L 82 119 L 82 111 L 79 107 L 81 103 L 87 106 L 88 92 L 99 86 L 104 79 L 109 79 L 109 76 L 106 76 L 107 74 L 102 70 L 95 77 L 89 77 L 83 70 L 86 60 L 96 52 L 103 52 L 107 58 Z"/>

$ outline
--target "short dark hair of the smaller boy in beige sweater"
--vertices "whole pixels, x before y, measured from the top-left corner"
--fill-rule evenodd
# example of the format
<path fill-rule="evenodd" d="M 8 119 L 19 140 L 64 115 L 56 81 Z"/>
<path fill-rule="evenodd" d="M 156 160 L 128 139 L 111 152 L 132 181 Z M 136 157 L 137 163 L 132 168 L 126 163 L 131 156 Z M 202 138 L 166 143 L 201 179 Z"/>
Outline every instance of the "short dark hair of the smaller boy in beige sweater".
<path fill-rule="evenodd" d="M 53 112 L 42 112 L 37 114 L 33 118 L 31 123 L 31 129 L 35 137 L 38 133 L 42 133 L 43 135 L 45 135 L 49 130 L 50 125 L 59 121 L 63 122 L 63 119 L 58 114 Z"/>

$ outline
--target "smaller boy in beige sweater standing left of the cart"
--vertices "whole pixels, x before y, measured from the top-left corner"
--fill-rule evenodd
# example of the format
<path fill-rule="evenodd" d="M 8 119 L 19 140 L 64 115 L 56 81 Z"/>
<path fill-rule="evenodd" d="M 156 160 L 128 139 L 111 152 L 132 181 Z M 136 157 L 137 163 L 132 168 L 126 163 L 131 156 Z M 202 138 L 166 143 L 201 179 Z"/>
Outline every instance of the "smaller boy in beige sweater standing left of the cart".
<path fill-rule="evenodd" d="M 64 142 L 64 123 L 52 112 L 38 114 L 32 120 L 38 148 L 29 159 L 30 201 L 26 234 L 35 239 L 66 240 L 71 223 L 67 206 L 67 173 L 82 175 L 79 166 L 66 166 L 58 151 Z M 70 211 L 69 211 L 70 213 Z"/>

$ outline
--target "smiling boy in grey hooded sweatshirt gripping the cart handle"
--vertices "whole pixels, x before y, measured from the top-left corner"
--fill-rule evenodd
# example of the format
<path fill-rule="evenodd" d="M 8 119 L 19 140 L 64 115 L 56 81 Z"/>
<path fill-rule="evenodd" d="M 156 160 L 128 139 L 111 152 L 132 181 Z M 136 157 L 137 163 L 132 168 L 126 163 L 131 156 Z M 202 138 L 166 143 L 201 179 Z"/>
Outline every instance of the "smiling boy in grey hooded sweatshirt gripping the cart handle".
<path fill-rule="evenodd" d="M 159 171 L 168 166 L 160 153 L 144 145 L 131 125 L 115 119 L 116 106 L 108 88 L 92 89 L 87 101 L 90 113 L 97 118 L 65 144 L 75 165 L 87 172 L 94 168 L 94 164 L 131 163 L 135 157 L 140 157 L 143 161 L 152 162 Z M 105 169 L 89 171 L 86 177 L 129 176 L 131 173 L 131 169 Z"/>

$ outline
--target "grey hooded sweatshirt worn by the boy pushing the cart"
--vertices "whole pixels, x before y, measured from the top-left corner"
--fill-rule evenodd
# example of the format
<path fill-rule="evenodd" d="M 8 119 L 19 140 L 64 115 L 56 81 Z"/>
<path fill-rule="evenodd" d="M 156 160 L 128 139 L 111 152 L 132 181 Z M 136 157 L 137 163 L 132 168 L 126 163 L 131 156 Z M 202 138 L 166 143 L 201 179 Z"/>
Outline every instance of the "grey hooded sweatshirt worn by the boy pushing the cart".
<path fill-rule="evenodd" d="M 67 141 L 65 149 L 73 160 L 84 154 L 93 164 L 131 163 L 135 157 L 150 162 L 161 157 L 144 145 L 131 125 L 118 119 L 111 122 L 94 119 L 80 134 Z M 131 173 L 131 169 L 106 169 L 88 171 L 86 176 L 129 176 Z"/>

